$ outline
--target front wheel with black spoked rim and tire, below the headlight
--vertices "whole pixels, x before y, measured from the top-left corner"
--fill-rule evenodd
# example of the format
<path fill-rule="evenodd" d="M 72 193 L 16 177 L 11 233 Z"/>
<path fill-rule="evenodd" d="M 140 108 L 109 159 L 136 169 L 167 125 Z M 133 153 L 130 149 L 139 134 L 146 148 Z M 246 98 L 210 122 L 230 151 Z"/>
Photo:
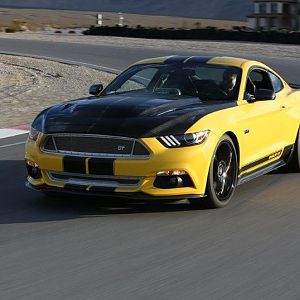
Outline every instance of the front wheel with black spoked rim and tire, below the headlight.
<path fill-rule="evenodd" d="M 225 134 L 216 147 L 208 172 L 206 195 L 202 200 L 189 199 L 192 205 L 208 208 L 225 207 L 231 200 L 238 173 L 238 161 L 235 146 Z"/>

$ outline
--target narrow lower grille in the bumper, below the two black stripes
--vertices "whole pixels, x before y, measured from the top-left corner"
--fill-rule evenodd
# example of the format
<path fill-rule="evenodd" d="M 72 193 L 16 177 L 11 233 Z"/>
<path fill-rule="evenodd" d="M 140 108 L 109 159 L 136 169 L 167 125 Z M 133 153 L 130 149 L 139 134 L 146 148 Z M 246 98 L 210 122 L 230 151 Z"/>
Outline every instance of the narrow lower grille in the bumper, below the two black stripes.
<path fill-rule="evenodd" d="M 52 182 L 79 186 L 137 188 L 142 182 L 142 177 L 79 175 L 52 171 L 48 171 L 47 174 Z"/>

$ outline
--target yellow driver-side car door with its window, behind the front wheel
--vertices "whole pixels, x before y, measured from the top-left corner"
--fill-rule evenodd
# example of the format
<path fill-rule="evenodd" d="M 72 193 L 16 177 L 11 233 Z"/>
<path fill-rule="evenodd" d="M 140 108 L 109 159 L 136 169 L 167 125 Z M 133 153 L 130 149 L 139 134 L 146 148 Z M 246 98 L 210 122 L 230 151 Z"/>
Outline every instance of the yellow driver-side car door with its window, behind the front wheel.
<path fill-rule="evenodd" d="M 259 90 L 273 91 L 275 99 L 255 99 Z M 285 147 L 287 116 L 282 98 L 276 94 L 270 74 L 263 68 L 249 70 L 244 99 L 245 105 L 240 107 L 241 167 L 247 170 L 280 157 Z"/>

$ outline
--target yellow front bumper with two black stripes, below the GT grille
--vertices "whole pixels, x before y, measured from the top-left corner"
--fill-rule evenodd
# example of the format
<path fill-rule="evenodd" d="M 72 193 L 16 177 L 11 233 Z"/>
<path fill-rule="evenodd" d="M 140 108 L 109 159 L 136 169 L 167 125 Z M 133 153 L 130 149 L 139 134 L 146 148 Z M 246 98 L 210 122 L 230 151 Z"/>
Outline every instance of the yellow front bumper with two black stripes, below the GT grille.
<path fill-rule="evenodd" d="M 26 144 L 25 159 L 34 162 L 41 171 L 41 177 L 34 179 L 28 176 L 27 186 L 36 190 L 71 192 L 76 194 L 95 194 L 95 195 L 114 195 L 130 198 L 157 198 L 157 199 L 182 199 L 198 198 L 205 195 L 206 180 L 209 170 L 211 157 L 213 155 L 215 141 L 212 137 L 205 143 L 192 147 L 165 148 L 155 138 L 141 139 L 151 155 L 147 159 L 123 159 L 97 160 L 89 157 L 70 157 L 58 154 L 45 153 L 41 151 L 40 145 L 45 136 L 40 135 L 37 141 L 28 140 Z M 74 159 L 74 164 L 72 161 Z M 66 163 L 66 160 L 68 164 Z M 66 184 L 59 180 L 53 180 L 49 172 L 65 174 L 72 171 L 81 160 L 83 169 L 79 172 L 81 177 L 89 176 L 91 167 L 103 169 L 104 175 L 107 174 L 107 168 L 111 165 L 112 177 L 118 178 L 140 178 L 136 186 L 107 186 L 104 184 L 82 184 L 76 181 L 75 184 Z M 90 166 L 90 162 L 95 162 L 95 166 Z M 66 170 L 68 166 L 68 170 Z M 176 188 L 158 188 L 155 186 L 157 173 L 168 170 L 181 170 L 188 174 L 191 185 Z M 75 170 L 76 171 L 76 170 Z"/>

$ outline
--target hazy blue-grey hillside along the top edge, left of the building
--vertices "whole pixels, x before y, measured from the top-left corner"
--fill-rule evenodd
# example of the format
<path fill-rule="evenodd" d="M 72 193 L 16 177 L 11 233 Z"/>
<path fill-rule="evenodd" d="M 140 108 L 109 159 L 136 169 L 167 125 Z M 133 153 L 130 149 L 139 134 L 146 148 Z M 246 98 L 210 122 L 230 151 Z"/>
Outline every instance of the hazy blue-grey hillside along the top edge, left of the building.
<path fill-rule="evenodd" d="M 0 7 L 49 8 L 181 16 L 204 19 L 246 20 L 252 0 L 0 0 Z"/>

